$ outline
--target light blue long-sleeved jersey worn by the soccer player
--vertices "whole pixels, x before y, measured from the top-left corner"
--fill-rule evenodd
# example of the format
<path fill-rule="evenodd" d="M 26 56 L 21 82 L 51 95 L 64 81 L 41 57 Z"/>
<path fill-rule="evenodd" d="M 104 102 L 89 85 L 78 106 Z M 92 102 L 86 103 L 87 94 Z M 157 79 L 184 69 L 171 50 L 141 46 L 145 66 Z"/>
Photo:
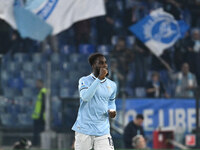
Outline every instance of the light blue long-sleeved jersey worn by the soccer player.
<path fill-rule="evenodd" d="M 116 110 L 116 84 L 93 74 L 79 80 L 80 107 L 72 130 L 94 136 L 110 133 L 108 110 Z"/>

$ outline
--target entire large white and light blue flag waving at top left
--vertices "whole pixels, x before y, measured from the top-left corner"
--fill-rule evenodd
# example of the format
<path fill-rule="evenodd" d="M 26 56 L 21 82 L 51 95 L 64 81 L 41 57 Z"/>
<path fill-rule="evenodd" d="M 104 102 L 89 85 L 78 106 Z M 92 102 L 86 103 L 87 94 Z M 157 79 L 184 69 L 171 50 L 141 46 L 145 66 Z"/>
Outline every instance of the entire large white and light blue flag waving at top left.
<path fill-rule="evenodd" d="M 9 23 L 12 28 L 18 29 L 23 38 L 29 37 L 40 41 L 50 33 L 49 30 L 44 33 L 39 30 L 38 26 L 45 25 L 45 22 L 53 28 L 52 34 L 55 35 L 68 29 L 77 21 L 105 15 L 104 0 L 28 0 L 25 6 L 13 6 L 14 2 L 15 0 L 0 0 L 0 18 Z M 31 13 L 22 13 L 28 10 L 41 19 Z M 45 22 L 42 23 L 43 20 Z M 37 26 L 31 31 L 36 36 L 32 36 L 29 30 L 29 25 L 34 22 L 37 22 Z"/>

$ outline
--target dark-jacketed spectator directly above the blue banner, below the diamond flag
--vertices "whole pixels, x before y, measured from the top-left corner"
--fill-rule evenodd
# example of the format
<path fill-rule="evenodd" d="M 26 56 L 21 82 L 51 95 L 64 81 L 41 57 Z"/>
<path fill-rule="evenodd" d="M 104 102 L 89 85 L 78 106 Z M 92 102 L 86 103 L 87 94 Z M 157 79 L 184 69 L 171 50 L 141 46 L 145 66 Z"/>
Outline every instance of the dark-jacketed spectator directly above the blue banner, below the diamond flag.
<path fill-rule="evenodd" d="M 158 72 L 152 73 L 151 81 L 147 83 L 146 93 L 147 97 L 149 98 L 169 98 L 169 95 L 165 91 L 163 83 L 160 81 L 160 76 Z"/>

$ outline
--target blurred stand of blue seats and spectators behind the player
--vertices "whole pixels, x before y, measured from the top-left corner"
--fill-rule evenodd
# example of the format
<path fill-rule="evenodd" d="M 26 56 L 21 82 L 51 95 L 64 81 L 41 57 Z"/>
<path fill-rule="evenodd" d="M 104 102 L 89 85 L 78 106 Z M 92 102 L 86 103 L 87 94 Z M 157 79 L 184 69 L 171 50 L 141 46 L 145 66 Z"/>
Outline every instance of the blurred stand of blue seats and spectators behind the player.
<path fill-rule="evenodd" d="M 60 98 L 77 98 L 78 79 L 90 73 L 87 56 L 93 52 L 108 58 L 109 77 L 118 84 L 118 97 L 194 96 L 192 89 L 200 84 L 200 1 L 105 0 L 105 3 L 106 16 L 75 23 L 41 43 L 20 38 L 17 31 L 0 20 L 1 94 L 5 97 L 0 101 L 0 112 L 5 114 L 1 115 L 2 124 L 13 126 L 12 115 L 16 112 L 19 114 L 16 126 L 32 124 L 29 117 L 32 110 L 27 106 L 34 104 L 36 79 L 47 77 L 48 61 L 55 103 L 52 109 L 56 112 L 61 107 Z M 161 56 L 173 72 L 128 30 L 160 7 L 190 25 L 185 37 Z"/>

